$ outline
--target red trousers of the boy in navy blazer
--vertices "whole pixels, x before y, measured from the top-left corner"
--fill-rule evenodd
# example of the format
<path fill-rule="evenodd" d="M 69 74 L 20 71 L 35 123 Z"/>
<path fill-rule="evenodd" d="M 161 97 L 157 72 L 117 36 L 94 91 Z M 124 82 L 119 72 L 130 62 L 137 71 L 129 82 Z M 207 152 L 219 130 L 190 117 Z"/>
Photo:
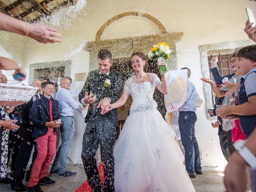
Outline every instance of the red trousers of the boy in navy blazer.
<path fill-rule="evenodd" d="M 36 138 L 36 144 L 38 152 L 32 167 L 28 187 L 37 185 L 38 180 L 47 175 L 56 149 L 56 134 L 54 134 L 54 128 L 48 128 L 46 135 Z"/>

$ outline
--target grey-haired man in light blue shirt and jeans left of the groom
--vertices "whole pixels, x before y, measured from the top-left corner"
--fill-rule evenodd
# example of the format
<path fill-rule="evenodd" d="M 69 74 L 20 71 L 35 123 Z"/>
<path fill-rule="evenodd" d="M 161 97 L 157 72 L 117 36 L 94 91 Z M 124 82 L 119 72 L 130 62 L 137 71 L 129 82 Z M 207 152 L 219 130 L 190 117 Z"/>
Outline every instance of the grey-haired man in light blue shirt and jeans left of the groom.
<path fill-rule="evenodd" d="M 76 172 L 67 170 L 67 158 L 68 151 L 72 144 L 72 138 L 75 132 L 74 126 L 74 109 L 82 113 L 82 106 L 74 100 L 78 97 L 78 94 L 70 92 L 71 78 L 63 77 L 60 80 L 60 90 L 56 93 L 56 100 L 60 106 L 60 118 L 62 120 L 63 127 L 60 128 L 61 132 L 61 145 L 55 156 L 50 175 L 59 174 L 58 177 L 72 177 L 76 175 Z M 60 166 L 58 164 L 60 163 Z"/>

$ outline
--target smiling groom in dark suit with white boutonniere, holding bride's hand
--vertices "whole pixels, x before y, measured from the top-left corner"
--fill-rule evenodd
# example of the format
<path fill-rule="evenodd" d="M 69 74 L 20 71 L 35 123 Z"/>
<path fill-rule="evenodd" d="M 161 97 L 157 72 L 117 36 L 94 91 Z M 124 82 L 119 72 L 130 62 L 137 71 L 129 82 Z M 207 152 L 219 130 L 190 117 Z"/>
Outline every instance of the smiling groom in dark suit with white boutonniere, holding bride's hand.
<path fill-rule="evenodd" d="M 117 110 L 101 115 L 100 111 L 110 103 L 118 100 L 122 91 L 122 76 L 111 69 L 112 54 L 106 49 L 98 54 L 98 70 L 88 73 L 88 77 L 79 94 L 80 102 L 90 104 L 85 117 L 86 129 L 83 138 L 82 160 L 93 192 L 114 192 L 114 158 L 116 126 L 118 126 Z M 106 79 L 110 85 L 104 86 Z M 88 95 L 88 93 L 92 93 Z M 104 164 L 104 187 L 97 169 L 96 150 L 100 146 L 101 159 Z"/>

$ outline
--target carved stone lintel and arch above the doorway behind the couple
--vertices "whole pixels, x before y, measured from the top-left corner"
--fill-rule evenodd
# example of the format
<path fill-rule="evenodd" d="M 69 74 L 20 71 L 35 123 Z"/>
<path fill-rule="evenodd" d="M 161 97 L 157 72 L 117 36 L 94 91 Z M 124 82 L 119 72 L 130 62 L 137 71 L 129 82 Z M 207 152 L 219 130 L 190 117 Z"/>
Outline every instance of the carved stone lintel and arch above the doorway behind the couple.
<path fill-rule="evenodd" d="M 112 24 L 114 21 L 123 18 L 125 16 L 142 16 L 156 24 L 161 34 L 148 35 L 148 36 L 139 36 L 131 38 L 120 38 L 120 39 L 111 39 L 111 40 L 100 40 L 100 37 L 104 30 Z M 183 32 L 168 33 L 163 26 L 163 24 L 151 16 L 150 14 L 140 13 L 140 12 L 124 12 L 118 14 L 107 22 L 105 22 L 96 34 L 95 41 L 87 42 L 84 50 L 90 53 L 90 66 L 89 70 L 97 69 L 97 55 L 100 49 L 108 49 L 112 52 L 113 58 L 130 58 L 132 52 L 140 50 L 145 54 L 148 53 L 148 50 L 152 45 L 157 44 L 158 42 L 166 42 L 169 44 L 172 51 L 176 51 L 176 42 L 179 42 L 182 39 Z M 177 58 L 176 55 L 173 55 L 171 69 L 177 69 Z"/>

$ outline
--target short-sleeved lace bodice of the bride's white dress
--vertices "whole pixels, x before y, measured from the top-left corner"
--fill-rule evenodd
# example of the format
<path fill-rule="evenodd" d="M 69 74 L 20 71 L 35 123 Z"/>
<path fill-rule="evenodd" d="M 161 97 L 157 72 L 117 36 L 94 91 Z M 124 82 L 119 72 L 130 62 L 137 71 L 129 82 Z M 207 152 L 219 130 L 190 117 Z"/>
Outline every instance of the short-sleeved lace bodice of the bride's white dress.
<path fill-rule="evenodd" d="M 157 104 L 153 99 L 156 86 L 161 82 L 156 74 L 149 73 L 150 80 L 142 83 L 135 83 L 134 76 L 124 83 L 124 92 L 132 96 L 130 114 L 146 110 L 156 110 Z"/>

